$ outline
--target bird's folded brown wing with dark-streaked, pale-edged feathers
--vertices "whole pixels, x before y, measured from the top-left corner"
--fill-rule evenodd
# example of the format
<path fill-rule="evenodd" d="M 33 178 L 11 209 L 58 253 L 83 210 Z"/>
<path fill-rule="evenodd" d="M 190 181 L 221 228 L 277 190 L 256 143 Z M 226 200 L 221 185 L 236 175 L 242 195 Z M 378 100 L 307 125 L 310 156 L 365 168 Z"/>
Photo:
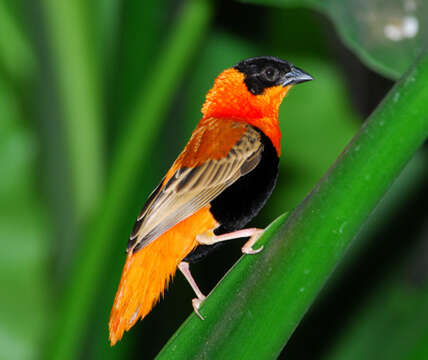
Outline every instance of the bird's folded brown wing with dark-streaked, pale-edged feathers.
<path fill-rule="evenodd" d="M 128 251 L 135 252 L 147 246 L 208 205 L 224 189 L 258 165 L 263 151 L 260 134 L 251 126 L 242 126 L 244 132 L 241 138 L 225 157 L 207 160 L 196 167 L 183 166 L 172 176 L 167 175 L 143 207 L 128 242 Z M 223 140 L 218 138 L 214 141 Z M 215 144 L 210 145 L 215 148 Z"/>

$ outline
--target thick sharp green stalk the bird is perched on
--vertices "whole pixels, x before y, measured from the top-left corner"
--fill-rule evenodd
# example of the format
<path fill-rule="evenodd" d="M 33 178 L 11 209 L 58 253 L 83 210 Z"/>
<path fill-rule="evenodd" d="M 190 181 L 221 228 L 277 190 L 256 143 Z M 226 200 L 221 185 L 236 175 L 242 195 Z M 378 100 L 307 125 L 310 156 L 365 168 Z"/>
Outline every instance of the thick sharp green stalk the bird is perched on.
<path fill-rule="evenodd" d="M 261 238 L 263 252 L 244 256 L 219 283 L 201 307 L 205 321 L 192 314 L 159 359 L 278 356 L 353 237 L 427 138 L 427 82 L 425 54 L 303 203 Z"/>

